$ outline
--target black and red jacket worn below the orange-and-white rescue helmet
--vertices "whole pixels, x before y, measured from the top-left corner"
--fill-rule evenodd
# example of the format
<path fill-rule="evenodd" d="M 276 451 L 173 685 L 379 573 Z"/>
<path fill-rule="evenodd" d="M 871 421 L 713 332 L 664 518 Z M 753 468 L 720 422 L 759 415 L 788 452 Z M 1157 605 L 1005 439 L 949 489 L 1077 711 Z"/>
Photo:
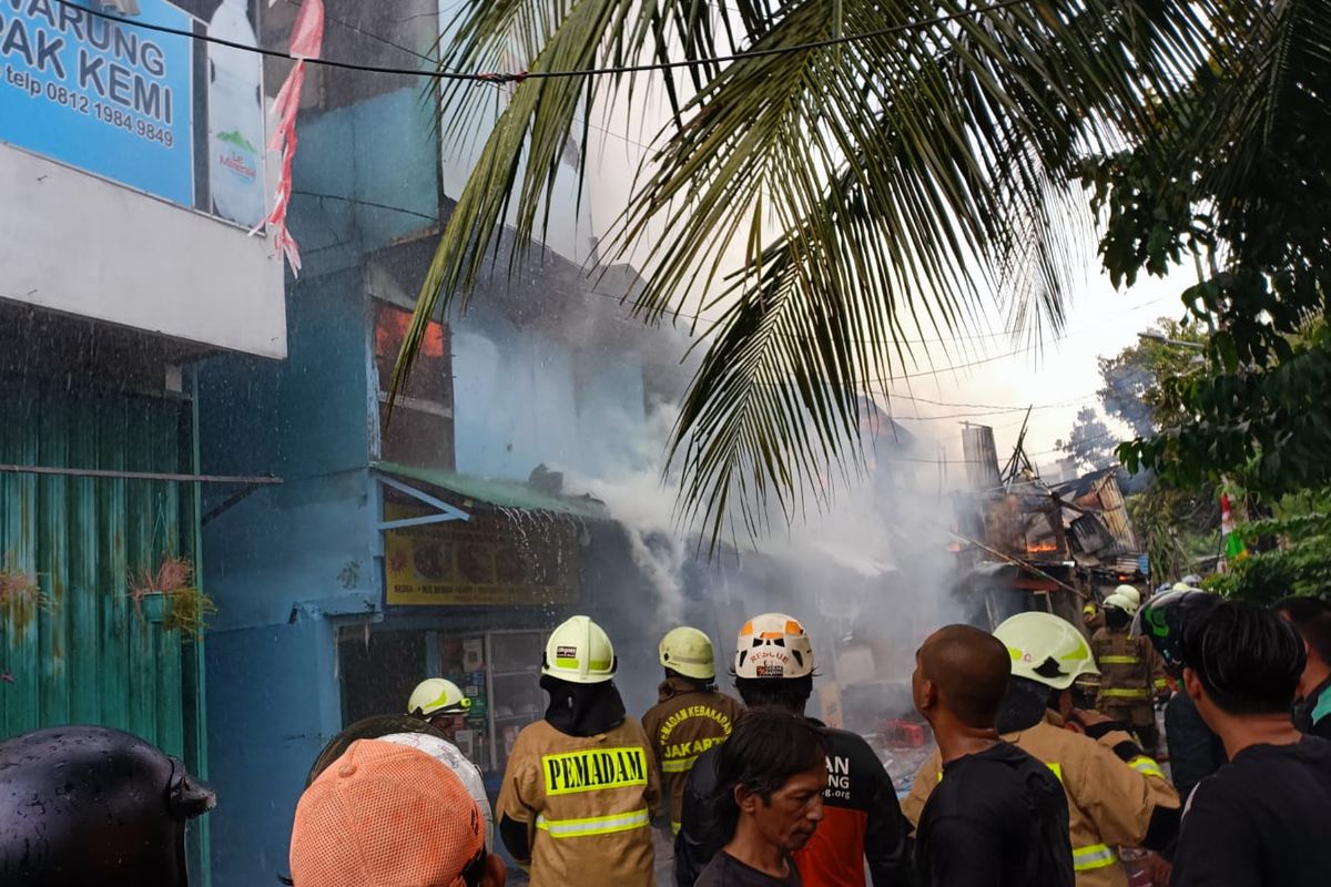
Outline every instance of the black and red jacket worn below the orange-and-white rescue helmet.
<path fill-rule="evenodd" d="M 795 852 L 804 887 L 864 887 L 865 863 L 873 887 L 910 884 L 908 824 L 892 778 L 861 737 L 845 730 L 828 730 L 827 735 L 823 822 L 809 843 Z M 719 834 L 708 817 L 716 791 L 717 751 L 701 754 L 688 777 L 681 827 L 675 839 L 676 887 L 692 887 L 703 867 L 731 838 Z"/>

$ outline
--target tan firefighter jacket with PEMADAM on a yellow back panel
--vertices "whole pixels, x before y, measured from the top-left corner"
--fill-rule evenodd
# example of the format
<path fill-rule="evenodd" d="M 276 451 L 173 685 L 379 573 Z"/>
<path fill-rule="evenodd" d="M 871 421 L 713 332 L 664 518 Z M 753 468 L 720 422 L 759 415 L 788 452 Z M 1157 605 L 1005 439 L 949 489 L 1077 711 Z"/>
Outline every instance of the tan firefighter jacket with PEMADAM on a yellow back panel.
<path fill-rule="evenodd" d="M 531 887 L 652 887 L 659 801 L 656 761 L 634 718 L 591 737 L 538 721 L 508 755 L 498 817 L 500 830 L 527 827 Z"/>

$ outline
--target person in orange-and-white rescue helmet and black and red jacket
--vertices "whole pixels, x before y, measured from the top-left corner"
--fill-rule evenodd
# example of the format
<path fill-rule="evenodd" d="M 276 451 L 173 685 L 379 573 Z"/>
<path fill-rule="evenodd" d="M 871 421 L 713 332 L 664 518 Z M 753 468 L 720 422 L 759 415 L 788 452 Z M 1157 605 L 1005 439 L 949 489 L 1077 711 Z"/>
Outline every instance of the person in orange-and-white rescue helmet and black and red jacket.
<path fill-rule="evenodd" d="M 735 689 L 749 709 L 772 706 L 804 714 L 813 693 L 813 646 L 799 620 L 755 616 L 735 645 Z M 910 883 L 906 827 L 896 789 L 862 737 L 827 730 L 828 787 L 823 823 L 795 864 L 804 887 L 864 887 L 865 863 L 874 887 Z M 675 839 L 675 883 L 692 887 L 729 840 L 712 815 L 720 750 L 699 755 L 688 775 Z"/>

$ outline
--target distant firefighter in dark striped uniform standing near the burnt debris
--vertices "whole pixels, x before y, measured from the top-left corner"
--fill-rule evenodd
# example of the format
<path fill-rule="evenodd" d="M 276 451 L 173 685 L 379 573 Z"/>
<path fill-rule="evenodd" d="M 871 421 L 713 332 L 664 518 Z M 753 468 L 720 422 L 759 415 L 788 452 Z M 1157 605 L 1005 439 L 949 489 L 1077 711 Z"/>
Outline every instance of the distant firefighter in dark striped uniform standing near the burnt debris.
<path fill-rule="evenodd" d="M 1159 746 L 1159 730 L 1151 703 L 1169 698 L 1169 684 L 1150 642 L 1129 632 L 1139 602 L 1141 594 L 1131 585 L 1119 585 L 1105 598 L 1105 628 L 1090 638 L 1099 665 L 1099 702 L 1095 707 L 1111 719 L 1129 723 L 1142 747 L 1154 755 Z"/>

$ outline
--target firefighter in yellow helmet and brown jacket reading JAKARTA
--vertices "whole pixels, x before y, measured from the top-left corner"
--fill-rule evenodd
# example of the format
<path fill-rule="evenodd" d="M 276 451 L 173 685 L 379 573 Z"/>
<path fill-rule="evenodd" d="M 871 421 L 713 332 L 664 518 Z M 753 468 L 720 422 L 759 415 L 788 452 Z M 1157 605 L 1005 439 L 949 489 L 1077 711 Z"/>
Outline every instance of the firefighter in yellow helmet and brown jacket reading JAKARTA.
<path fill-rule="evenodd" d="M 716 690 L 712 641 L 696 628 L 672 629 L 658 652 L 666 680 L 659 688 L 660 701 L 643 715 L 643 729 L 660 765 L 671 832 L 679 834 L 688 771 L 699 754 L 731 735 L 743 706 Z"/>

